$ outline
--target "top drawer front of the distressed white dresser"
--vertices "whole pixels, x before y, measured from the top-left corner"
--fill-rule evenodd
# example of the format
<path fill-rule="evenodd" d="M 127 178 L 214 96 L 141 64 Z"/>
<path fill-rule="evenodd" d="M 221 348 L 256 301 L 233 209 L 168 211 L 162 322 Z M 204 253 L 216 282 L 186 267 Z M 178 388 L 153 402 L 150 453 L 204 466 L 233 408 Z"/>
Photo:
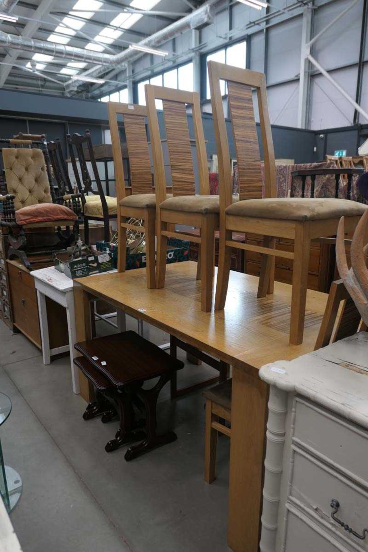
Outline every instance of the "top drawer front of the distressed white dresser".
<path fill-rule="evenodd" d="M 326 458 L 368 490 L 368 462 L 362 461 L 368 458 L 368 432 L 361 427 L 297 397 L 293 442 Z"/>

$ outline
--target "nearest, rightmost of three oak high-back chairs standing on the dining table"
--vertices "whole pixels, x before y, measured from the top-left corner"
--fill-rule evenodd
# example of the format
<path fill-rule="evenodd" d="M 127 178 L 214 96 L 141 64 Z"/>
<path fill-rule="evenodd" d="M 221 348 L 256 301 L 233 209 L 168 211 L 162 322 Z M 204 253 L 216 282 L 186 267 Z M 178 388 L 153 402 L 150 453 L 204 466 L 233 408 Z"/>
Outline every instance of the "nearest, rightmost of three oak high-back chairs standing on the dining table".
<path fill-rule="evenodd" d="M 231 248 L 262 253 L 258 297 L 273 291 L 275 256 L 294 259 L 290 320 L 290 343 L 303 341 L 310 242 L 336 233 L 341 216 L 346 231 L 353 230 L 366 205 L 345 199 L 276 198 L 275 157 L 263 73 L 208 62 L 212 113 L 220 182 L 220 250 L 218 254 L 215 309 L 223 309 L 230 275 Z M 230 152 L 220 80 L 227 82 L 239 170 L 239 201 L 231 203 Z M 252 88 L 257 91 L 262 134 L 265 198 L 261 197 L 258 136 Z M 232 232 L 254 232 L 265 236 L 264 246 L 232 240 Z M 294 252 L 276 250 L 275 237 L 294 240 Z"/>

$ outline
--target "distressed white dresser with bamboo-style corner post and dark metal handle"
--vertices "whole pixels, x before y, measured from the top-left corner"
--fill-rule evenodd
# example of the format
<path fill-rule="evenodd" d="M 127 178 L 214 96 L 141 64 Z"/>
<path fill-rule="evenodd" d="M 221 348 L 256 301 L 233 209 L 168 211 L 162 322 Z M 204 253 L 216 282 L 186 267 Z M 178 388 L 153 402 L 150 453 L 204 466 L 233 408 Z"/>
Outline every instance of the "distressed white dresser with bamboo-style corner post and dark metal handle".
<path fill-rule="evenodd" d="M 261 552 L 368 551 L 368 333 L 260 369 Z"/>

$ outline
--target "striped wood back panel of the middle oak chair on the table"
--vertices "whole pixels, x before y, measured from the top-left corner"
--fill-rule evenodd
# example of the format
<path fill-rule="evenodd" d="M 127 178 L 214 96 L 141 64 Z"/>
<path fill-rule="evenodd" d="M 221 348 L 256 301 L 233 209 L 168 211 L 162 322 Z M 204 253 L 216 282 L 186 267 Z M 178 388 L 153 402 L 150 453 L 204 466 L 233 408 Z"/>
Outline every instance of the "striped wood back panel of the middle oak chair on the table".
<path fill-rule="evenodd" d="M 195 195 L 193 158 L 185 103 L 171 100 L 163 100 L 162 103 L 173 194 Z"/>

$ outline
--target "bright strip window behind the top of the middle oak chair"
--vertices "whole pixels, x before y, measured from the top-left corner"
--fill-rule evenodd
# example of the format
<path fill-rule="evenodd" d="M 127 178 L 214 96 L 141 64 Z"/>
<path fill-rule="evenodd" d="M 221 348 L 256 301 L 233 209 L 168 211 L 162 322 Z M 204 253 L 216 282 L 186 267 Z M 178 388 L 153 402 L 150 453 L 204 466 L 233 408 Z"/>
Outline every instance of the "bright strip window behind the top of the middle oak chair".
<path fill-rule="evenodd" d="M 145 84 L 166 86 L 167 88 L 179 88 L 181 90 L 193 92 L 193 63 L 185 63 L 185 65 L 175 67 L 175 69 L 161 73 L 161 75 L 155 75 L 146 81 L 138 82 L 137 97 L 138 104 L 140 105 L 146 105 Z M 156 100 L 156 107 L 157 109 L 162 109 L 161 100 Z"/>

